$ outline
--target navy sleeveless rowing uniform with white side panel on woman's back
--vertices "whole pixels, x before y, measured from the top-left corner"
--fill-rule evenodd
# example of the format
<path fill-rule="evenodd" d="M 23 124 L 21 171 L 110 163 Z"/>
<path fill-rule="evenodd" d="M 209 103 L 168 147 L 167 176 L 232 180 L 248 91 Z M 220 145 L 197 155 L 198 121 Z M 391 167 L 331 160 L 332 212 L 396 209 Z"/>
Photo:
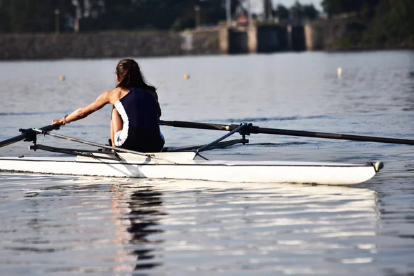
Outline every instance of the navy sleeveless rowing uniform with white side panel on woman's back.
<path fill-rule="evenodd" d="M 158 102 L 147 90 L 128 87 L 129 92 L 115 102 L 123 121 L 115 135 L 115 144 L 140 152 L 159 152 L 164 139 L 158 125 Z"/>

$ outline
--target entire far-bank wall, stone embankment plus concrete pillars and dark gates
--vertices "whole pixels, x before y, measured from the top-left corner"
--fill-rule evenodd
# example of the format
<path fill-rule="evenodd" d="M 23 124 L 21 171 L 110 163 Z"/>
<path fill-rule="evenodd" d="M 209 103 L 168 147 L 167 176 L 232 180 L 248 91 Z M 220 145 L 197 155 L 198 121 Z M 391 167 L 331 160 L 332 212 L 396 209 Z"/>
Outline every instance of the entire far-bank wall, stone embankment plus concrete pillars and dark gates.
<path fill-rule="evenodd" d="M 237 55 L 324 50 L 351 28 L 355 28 L 355 22 L 339 20 L 316 21 L 305 26 L 217 26 L 184 32 L 0 34 L 0 60 Z"/>

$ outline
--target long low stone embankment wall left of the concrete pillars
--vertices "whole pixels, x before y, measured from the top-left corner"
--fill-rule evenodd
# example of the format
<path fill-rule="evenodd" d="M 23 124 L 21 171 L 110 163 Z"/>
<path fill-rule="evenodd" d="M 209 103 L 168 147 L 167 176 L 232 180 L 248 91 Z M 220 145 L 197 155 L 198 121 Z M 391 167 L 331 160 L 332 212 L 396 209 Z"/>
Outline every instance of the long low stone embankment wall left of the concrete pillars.
<path fill-rule="evenodd" d="M 219 54 L 218 30 L 0 34 L 0 60 Z"/>

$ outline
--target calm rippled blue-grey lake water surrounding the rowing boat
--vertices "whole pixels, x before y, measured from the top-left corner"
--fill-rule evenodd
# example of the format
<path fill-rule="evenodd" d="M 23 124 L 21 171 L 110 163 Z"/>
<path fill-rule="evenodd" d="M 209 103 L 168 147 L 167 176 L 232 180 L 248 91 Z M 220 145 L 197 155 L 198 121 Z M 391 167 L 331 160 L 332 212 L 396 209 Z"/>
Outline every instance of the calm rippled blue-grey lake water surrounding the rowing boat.
<path fill-rule="evenodd" d="M 1 62 L 0 140 L 95 100 L 115 86 L 117 61 Z M 137 61 L 158 87 L 162 119 L 414 139 L 414 51 Z M 59 81 L 61 75 L 66 81 Z M 109 120 L 110 106 L 59 133 L 106 143 Z M 166 146 L 224 135 L 166 126 L 161 131 Z M 0 275 L 414 273 L 413 146 L 249 139 L 246 146 L 206 155 L 383 161 L 385 167 L 352 188 L 0 172 Z M 39 142 L 81 146 L 53 137 Z M 27 147 L 1 148 L 0 156 L 54 155 Z"/>

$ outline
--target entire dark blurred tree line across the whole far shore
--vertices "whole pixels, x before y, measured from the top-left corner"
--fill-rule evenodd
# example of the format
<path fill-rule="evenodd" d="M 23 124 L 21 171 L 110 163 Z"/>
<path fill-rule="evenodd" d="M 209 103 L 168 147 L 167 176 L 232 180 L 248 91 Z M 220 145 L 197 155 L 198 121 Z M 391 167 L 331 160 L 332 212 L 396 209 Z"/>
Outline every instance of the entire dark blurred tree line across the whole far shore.
<path fill-rule="evenodd" d="M 311 21 L 320 12 L 313 5 L 277 5 L 263 2 L 265 12 L 279 22 Z M 321 0 L 328 18 L 352 15 L 364 24 L 348 32 L 342 43 L 413 43 L 414 0 Z M 246 1 L 231 0 L 246 12 Z M 255 15 L 253 14 L 253 18 Z M 184 30 L 201 25 L 217 25 L 226 19 L 226 0 L 0 0 L 0 32 L 81 32 L 105 30 Z"/>

